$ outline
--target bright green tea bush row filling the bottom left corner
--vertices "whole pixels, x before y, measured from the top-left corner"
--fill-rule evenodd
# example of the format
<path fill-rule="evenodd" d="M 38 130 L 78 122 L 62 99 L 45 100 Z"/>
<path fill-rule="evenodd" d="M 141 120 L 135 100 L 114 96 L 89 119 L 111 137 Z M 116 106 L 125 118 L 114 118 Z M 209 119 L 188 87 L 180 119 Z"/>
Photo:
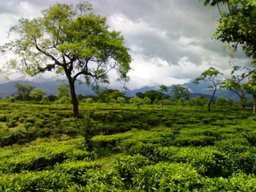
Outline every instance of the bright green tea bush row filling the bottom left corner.
<path fill-rule="evenodd" d="M 54 170 L 0 175 L 1 191 L 67 191 L 74 184 L 86 185 L 81 179 L 87 172 L 99 170 L 100 164 L 76 161 L 56 165 Z"/>

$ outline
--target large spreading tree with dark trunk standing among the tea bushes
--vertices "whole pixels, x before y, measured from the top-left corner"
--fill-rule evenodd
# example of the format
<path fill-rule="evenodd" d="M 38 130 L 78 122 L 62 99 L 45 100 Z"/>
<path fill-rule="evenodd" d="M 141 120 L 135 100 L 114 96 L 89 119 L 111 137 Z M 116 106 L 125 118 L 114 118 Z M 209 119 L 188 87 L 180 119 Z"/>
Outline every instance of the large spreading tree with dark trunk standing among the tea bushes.
<path fill-rule="evenodd" d="M 1 46 L 17 57 L 8 66 L 31 76 L 47 71 L 63 74 L 70 86 L 73 117 L 79 115 L 75 82 L 109 83 L 108 72 L 116 69 L 119 80 L 127 81 L 131 56 L 119 32 L 109 31 L 106 18 L 92 13 L 88 3 L 55 4 L 42 17 L 20 19 L 10 33 L 15 39 Z"/>

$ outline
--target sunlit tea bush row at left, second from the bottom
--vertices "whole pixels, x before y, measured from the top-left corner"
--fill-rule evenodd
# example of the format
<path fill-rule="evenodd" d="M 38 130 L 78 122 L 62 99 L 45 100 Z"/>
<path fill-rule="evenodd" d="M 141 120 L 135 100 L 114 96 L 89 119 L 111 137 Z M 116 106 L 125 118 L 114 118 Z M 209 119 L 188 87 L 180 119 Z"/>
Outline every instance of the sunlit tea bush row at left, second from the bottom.
<path fill-rule="evenodd" d="M 56 163 L 67 160 L 88 161 L 89 159 L 95 159 L 95 154 L 79 148 L 82 143 L 82 140 L 70 140 L 2 150 L 0 154 L 0 173 L 44 170 L 45 168 L 51 168 Z"/>

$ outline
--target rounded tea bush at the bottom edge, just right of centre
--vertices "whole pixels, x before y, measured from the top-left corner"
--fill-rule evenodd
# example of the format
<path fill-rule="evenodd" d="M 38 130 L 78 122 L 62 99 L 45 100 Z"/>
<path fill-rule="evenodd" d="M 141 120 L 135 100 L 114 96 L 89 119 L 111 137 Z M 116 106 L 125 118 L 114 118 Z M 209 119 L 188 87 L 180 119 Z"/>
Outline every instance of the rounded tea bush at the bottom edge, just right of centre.
<path fill-rule="evenodd" d="M 159 163 L 136 170 L 132 185 L 143 191 L 200 191 L 202 182 L 188 164 Z"/>

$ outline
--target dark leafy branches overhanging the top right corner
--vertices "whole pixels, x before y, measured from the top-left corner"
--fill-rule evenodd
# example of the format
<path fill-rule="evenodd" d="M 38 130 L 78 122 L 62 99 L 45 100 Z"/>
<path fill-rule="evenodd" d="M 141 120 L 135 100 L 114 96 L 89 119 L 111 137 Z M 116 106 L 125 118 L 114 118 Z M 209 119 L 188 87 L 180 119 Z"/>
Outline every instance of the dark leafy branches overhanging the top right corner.
<path fill-rule="evenodd" d="M 234 49 L 241 45 L 248 57 L 256 59 L 256 1 L 255 0 L 200 0 L 217 6 L 220 11 L 215 38 L 232 43 Z M 225 4 L 226 10 L 220 10 Z"/>

